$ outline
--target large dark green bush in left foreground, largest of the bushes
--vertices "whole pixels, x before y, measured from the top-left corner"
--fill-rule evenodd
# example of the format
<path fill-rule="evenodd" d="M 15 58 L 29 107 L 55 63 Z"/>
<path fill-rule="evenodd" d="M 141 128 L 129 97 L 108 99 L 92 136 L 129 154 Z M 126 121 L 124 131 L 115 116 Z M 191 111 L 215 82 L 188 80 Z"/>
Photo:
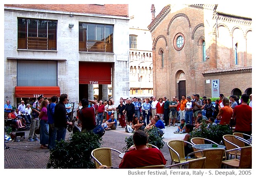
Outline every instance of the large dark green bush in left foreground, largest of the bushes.
<path fill-rule="evenodd" d="M 56 142 L 46 168 L 95 168 L 90 155 L 100 147 L 102 138 L 88 131 L 73 133 L 71 137 Z"/>

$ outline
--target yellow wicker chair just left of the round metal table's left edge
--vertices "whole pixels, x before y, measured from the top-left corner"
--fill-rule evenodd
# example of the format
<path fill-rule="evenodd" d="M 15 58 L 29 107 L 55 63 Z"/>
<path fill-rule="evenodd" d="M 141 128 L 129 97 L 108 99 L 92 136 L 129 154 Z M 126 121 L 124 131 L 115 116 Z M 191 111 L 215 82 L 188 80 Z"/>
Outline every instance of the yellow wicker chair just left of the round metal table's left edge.
<path fill-rule="evenodd" d="M 167 143 L 167 146 L 169 148 L 169 152 L 171 155 L 171 165 L 174 163 L 181 163 L 187 161 L 185 159 L 185 150 L 184 150 L 184 142 L 187 144 L 193 145 L 190 142 L 184 141 L 184 140 L 170 140 Z M 181 168 L 181 166 L 180 166 Z"/>

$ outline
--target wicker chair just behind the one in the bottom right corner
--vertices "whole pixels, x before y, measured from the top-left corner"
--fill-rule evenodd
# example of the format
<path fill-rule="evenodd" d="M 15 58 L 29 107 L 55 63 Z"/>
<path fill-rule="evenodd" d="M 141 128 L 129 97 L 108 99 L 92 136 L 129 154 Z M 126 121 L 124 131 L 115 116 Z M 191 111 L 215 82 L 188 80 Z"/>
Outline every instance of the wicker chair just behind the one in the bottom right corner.
<path fill-rule="evenodd" d="M 247 143 L 250 146 L 250 144 L 248 143 L 247 140 L 244 140 L 243 138 L 235 136 L 235 135 L 223 135 L 223 141 L 224 141 L 226 150 L 236 149 L 236 148 L 239 148 L 239 147 L 244 147 L 245 146 L 244 143 Z M 230 155 L 230 158 L 232 158 L 232 156 L 235 155 L 235 153 L 236 153 L 235 150 L 226 151 L 227 160 L 229 158 L 229 155 Z M 240 156 L 240 152 L 237 152 L 236 155 Z"/>

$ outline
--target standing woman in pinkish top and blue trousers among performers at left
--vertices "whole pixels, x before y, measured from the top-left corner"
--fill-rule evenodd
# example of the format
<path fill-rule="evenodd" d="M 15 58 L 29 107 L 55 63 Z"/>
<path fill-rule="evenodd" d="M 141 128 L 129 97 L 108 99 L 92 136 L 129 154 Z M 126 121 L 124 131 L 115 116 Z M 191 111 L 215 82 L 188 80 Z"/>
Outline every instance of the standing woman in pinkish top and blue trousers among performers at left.
<path fill-rule="evenodd" d="M 40 114 L 39 114 L 39 126 L 40 126 L 40 148 L 47 149 L 48 139 L 49 139 L 49 126 L 48 126 L 48 115 L 47 115 L 47 105 L 49 104 L 48 100 L 43 100 L 40 105 Z"/>

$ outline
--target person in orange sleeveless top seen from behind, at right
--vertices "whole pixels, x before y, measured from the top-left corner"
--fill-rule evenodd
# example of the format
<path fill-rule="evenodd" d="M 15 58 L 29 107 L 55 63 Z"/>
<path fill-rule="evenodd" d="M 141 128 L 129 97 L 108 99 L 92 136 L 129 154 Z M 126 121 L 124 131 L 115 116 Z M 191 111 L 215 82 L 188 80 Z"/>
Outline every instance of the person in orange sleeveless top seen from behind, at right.
<path fill-rule="evenodd" d="M 224 107 L 220 108 L 217 119 L 220 119 L 219 125 L 229 125 L 230 119 L 233 116 L 233 109 L 229 106 L 229 99 L 227 97 L 222 98 Z"/>

